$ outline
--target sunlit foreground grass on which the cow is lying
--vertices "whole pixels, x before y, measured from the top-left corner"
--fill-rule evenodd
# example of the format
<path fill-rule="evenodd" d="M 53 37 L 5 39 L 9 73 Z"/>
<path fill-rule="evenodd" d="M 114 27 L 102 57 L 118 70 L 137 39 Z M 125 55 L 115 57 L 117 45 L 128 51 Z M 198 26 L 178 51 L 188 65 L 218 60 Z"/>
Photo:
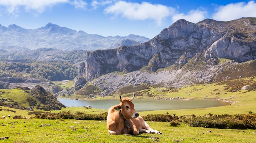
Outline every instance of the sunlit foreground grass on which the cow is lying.
<path fill-rule="evenodd" d="M 254 143 L 255 130 L 207 129 L 166 122 L 148 122 L 162 134 L 110 135 L 105 121 L 0 119 L 3 143 Z M 42 124 L 48 126 L 41 126 Z M 41 127 L 40 127 L 41 126 Z M 211 132 L 207 132 L 211 130 Z M 155 139 L 149 138 L 155 137 Z"/>

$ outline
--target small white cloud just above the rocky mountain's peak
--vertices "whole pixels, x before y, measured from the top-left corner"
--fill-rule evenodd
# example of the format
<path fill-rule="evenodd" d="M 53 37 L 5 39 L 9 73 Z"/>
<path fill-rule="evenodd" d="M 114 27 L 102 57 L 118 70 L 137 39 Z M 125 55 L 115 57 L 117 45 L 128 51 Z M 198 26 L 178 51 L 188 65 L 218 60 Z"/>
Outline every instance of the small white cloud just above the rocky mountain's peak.
<path fill-rule="evenodd" d="M 197 23 L 205 19 L 207 11 L 191 10 L 189 14 L 185 15 L 184 13 L 175 14 L 172 17 L 173 22 L 177 20 L 184 19 L 189 22 Z"/>

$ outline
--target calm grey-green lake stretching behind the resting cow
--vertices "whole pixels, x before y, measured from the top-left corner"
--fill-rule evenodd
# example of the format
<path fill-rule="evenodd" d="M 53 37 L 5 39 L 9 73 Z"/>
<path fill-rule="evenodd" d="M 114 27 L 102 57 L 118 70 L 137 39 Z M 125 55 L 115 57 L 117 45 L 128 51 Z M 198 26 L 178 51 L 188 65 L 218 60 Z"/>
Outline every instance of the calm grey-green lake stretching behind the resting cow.
<path fill-rule="evenodd" d="M 82 107 L 108 109 L 120 103 L 120 100 L 69 100 L 58 98 L 67 107 Z M 193 109 L 225 106 L 228 102 L 220 100 L 133 100 L 136 111 Z"/>

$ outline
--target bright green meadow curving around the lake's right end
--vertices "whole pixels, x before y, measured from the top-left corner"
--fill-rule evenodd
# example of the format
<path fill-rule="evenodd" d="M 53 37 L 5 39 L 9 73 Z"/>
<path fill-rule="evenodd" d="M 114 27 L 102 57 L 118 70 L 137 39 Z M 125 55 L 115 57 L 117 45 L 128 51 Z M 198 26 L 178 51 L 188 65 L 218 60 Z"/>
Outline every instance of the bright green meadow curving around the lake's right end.
<path fill-rule="evenodd" d="M 256 113 L 256 91 L 241 90 L 237 92 L 227 92 L 224 90 L 225 85 L 195 85 L 187 86 L 186 88 L 181 88 L 180 91 L 174 93 L 167 93 L 167 97 L 177 97 L 185 99 L 218 99 L 218 100 L 229 100 L 234 101 L 234 103 L 227 106 L 212 107 L 212 108 L 201 108 L 201 109 L 182 109 L 182 110 L 163 110 L 163 111 L 144 111 L 141 115 L 148 114 L 159 114 L 166 112 L 170 114 L 180 115 L 206 115 L 212 114 L 241 114 L 249 113 L 252 111 Z M 190 95 L 189 95 L 190 94 Z"/>

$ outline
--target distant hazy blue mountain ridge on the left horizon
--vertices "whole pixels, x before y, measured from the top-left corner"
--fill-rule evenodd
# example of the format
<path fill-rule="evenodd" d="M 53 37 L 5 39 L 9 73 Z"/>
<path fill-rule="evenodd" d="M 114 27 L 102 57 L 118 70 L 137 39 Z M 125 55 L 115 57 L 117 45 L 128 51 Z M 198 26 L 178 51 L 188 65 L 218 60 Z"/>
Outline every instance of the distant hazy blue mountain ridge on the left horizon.
<path fill-rule="evenodd" d="M 126 40 L 126 42 L 122 42 Z M 8 27 L 0 24 L 0 49 L 9 52 L 53 48 L 58 50 L 112 49 L 128 43 L 135 45 L 148 41 L 146 37 L 128 35 L 126 37 L 88 34 L 56 24 L 48 23 L 37 29 L 25 29 L 16 24 Z"/>

